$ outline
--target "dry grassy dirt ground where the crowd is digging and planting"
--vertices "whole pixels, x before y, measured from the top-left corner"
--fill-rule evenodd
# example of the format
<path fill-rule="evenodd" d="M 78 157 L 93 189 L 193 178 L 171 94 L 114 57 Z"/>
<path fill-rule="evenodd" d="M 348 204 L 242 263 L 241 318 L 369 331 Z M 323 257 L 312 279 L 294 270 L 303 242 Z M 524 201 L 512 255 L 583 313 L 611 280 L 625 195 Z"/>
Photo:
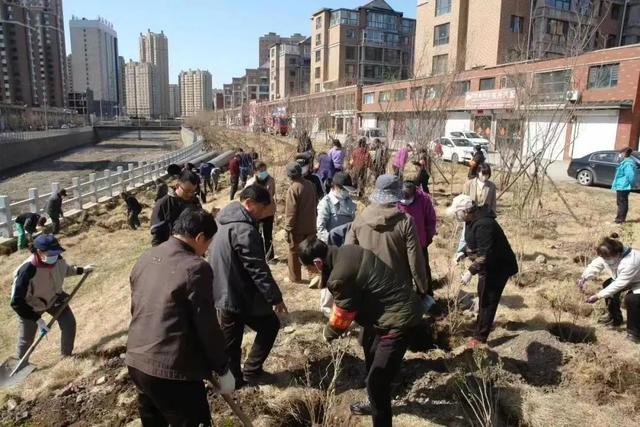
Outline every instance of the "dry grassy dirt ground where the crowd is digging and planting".
<path fill-rule="evenodd" d="M 284 164 L 293 158 L 294 141 L 231 131 L 218 131 L 210 141 L 255 148 L 270 164 L 283 199 Z M 492 425 L 640 425 L 640 346 L 627 341 L 624 330 L 597 325 L 603 304 L 585 304 L 574 284 L 600 236 L 616 231 L 626 244 L 638 246 L 638 195 L 631 195 L 631 221 L 616 226 L 609 223 L 615 196 L 605 189 L 573 183 L 560 186 L 578 215 L 577 222 L 550 187 L 541 210 L 528 218 L 516 215 L 514 195 L 506 193 L 498 201 L 498 219 L 518 256 L 520 273 L 507 285 L 488 349 L 473 352 L 464 344 L 475 315 L 455 303 L 461 291 L 457 278 L 463 270 L 453 266 L 451 259 L 460 229 L 444 216 L 450 190 L 458 192 L 464 176 L 462 167 L 455 169 L 453 185 L 434 176 L 432 193 L 439 223 L 430 255 L 438 283 L 436 297 L 449 315 L 435 322 L 438 348 L 409 352 L 390 385 L 394 425 L 490 425 L 470 421 L 474 417 L 465 402 L 476 397 L 482 397 L 487 412 L 496 414 Z M 71 304 L 78 320 L 76 355 L 60 360 L 59 331 L 54 328 L 32 357 L 39 369 L 21 387 L 0 392 L 0 425 L 139 425 L 122 355 L 129 322 L 128 274 L 149 246 L 151 193 L 142 194 L 148 206 L 137 231 L 126 229 L 119 203 L 97 208 L 67 228 L 61 240 L 68 249 L 66 258 L 99 266 Z M 227 202 L 223 189 L 207 208 Z M 282 209 L 280 204 L 275 228 L 279 259 L 286 256 L 282 233 L 277 232 Z M 7 299 L 12 271 L 26 256 L 0 258 L 0 287 Z M 265 366 L 273 381 L 241 390 L 236 394 L 238 401 L 257 426 L 310 426 L 312 418 L 314 425 L 371 425 L 368 418 L 349 415 L 349 404 L 366 397 L 363 356 L 356 338 L 325 344 L 318 291 L 288 283 L 283 262 L 272 270 L 290 312 L 282 316 L 282 329 Z M 66 287 L 74 283 L 75 279 L 68 279 Z M 590 286 L 595 290 L 599 282 Z M 462 291 L 475 294 L 475 282 Z M 16 323 L 8 304 L 0 306 L 1 358 L 14 352 Z M 245 351 L 253 337 L 247 331 Z M 336 355 L 342 359 L 331 392 Z M 240 425 L 219 397 L 211 396 L 210 402 L 215 425 Z"/>

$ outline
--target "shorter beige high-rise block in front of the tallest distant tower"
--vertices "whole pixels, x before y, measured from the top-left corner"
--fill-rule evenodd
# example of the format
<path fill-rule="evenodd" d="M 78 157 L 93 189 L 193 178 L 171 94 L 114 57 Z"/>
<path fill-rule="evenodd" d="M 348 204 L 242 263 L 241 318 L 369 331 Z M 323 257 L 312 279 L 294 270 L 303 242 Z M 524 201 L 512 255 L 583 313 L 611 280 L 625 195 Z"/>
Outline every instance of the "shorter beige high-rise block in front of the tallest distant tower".
<path fill-rule="evenodd" d="M 159 97 L 155 84 L 156 66 L 149 62 L 129 62 L 125 65 L 127 114 L 130 117 L 157 117 Z"/>

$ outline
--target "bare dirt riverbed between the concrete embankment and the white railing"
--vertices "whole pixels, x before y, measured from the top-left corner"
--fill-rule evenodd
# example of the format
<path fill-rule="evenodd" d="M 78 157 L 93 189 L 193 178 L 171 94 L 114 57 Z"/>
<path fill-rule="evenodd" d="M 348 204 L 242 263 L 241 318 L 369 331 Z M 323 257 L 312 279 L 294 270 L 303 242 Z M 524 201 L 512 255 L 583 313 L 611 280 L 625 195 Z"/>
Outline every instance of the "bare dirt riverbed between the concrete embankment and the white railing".
<path fill-rule="evenodd" d="M 114 171 L 118 166 L 126 170 L 130 162 L 151 160 L 181 144 L 180 132 L 142 132 L 142 140 L 138 140 L 137 132 L 129 132 L 3 172 L 0 174 L 0 194 L 11 200 L 22 200 L 27 198 L 29 188 L 37 188 L 41 194 L 49 193 L 51 182 L 59 182 L 64 187 L 71 185 L 71 178 L 76 176 L 84 182 L 92 172 Z"/>

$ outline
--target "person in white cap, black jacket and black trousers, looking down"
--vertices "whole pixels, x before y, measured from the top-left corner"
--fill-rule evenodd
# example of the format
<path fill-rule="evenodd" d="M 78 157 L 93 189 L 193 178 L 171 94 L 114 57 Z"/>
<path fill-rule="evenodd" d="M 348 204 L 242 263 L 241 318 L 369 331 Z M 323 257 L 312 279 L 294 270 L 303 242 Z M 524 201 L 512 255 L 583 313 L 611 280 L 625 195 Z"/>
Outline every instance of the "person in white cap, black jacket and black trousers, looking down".
<path fill-rule="evenodd" d="M 460 194 L 447 209 L 449 215 L 465 223 L 465 242 L 462 249 L 471 265 L 460 281 L 469 284 L 478 276 L 478 318 L 471 348 L 487 342 L 495 318 L 502 291 L 509 277 L 518 272 L 518 262 L 511 245 L 488 206 L 478 206 L 471 197 Z"/>

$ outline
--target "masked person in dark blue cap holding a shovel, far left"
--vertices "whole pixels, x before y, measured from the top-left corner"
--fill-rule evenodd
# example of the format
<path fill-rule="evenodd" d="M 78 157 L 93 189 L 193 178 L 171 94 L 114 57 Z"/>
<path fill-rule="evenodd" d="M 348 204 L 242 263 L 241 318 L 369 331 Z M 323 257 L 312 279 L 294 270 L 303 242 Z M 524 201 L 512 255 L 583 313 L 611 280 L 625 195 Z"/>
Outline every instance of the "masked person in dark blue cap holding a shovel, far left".
<path fill-rule="evenodd" d="M 84 274 L 94 269 L 93 265 L 76 267 L 62 258 L 64 249 L 53 234 L 42 234 L 35 238 L 31 246 L 32 255 L 14 272 L 11 288 L 11 308 L 18 315 L 20 333 L 17 356 L 22 358 L 27 352 L 36 332 L 49 332 L 43 313 L 55 315 L 69 295 L 62 285 L 65 277 Z M 60 326 L 60 352 L 70 356 L 76 338 L 76 319 L 68 305 L 58 317 Z"/>

